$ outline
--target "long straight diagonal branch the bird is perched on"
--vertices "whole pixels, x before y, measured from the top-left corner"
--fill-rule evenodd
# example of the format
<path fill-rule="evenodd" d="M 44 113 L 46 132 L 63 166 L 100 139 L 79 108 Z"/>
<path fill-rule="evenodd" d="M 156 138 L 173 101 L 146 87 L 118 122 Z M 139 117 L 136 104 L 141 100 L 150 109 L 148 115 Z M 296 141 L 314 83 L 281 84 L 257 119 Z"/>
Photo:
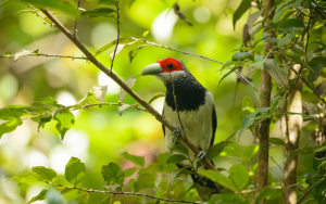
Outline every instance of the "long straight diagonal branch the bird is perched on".
<path fill-rule="evenodd" d="M 72 41 L 75 43 L 75 46 L 78 47 L 78 49 L 86 55 L 86 58 L 93 63 L 100 71 L 102 71 L 105 75 L 108 75 L 112 80 L 114 80 L 122 89 L 124 89 L 130 97 L 133 97 L 139 104 L 141 104 L 149 113 L 151 113 L 156 120 L 162 123 L 165 127 L 167 127 L 171 131 L 175 130 L 175 127 L 171 125 L 165 118 L 162 117 L 162 115 L 156 112 L 151 105 L 149 105 L 141 97 L 139 97 L 135 91 L 133 91 L 118 76 L 116 76 L 111 69 L 106 68 L 102 63 L 100 63 L 90 52 L 87 50 L 79 40 L 77 40 L 68 29 L 66 29 L 58 20 L 52 15 L 51 12 L 49 12 L 46 9 L 41 10 L 49 20 L 51 20 L 54 25 Z M 200 152 L 199 150 L 185 137 L 180 137 L 181 141 L 195 153 L 195 155 L 198 155 Z M 211 164 L 211 162 L 208 158 L 203 158 L 202 163 L 204 166 L 206 166 L 209 169 L 215 170 L 218 173 L 218 170 Z"/>

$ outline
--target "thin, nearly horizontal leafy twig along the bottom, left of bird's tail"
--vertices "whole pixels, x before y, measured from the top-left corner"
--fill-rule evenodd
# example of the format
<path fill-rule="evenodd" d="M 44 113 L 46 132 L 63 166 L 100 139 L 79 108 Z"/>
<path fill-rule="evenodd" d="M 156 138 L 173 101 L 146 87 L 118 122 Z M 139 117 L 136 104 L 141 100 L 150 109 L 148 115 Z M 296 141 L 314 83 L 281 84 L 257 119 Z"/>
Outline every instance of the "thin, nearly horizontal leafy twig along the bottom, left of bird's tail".
<path fill-rule="evenodd" d="M 82 189 L 82 188 L 77 188 L 77 187 L 66 187 L 66 186 L 62 186 L 62 184 L 52 183 L 50 181 L 45 181 L 45 182 L 47 182 L 49 184 L 52 184 L 54 187 L 64 187 L 65 189 L 75 189 L 75 190 L 84 191 L 84 192 L 88 192 L 88 193 L 103 193 L 103 194 L 114 194 L 114 195 L 123 194 L 123 195 L 128 195 L 128 196 L 145 196 L 145 197 L 150 197 L 150 199 L 164 201 L 164 202 L 170 202 L 170 203 L 192 203 L 192 204 L 202 203 L 202 202 L 191 202 L 191 201 L 163 199 L 163 197 L 158 197 L 158 196 L 142 194 L 142 193 L 124 192 L 124 191 L 106 191 L 106 190 L 105 191 L 100 191 L 100 190 L 85 189 L 85 188 Z"/>

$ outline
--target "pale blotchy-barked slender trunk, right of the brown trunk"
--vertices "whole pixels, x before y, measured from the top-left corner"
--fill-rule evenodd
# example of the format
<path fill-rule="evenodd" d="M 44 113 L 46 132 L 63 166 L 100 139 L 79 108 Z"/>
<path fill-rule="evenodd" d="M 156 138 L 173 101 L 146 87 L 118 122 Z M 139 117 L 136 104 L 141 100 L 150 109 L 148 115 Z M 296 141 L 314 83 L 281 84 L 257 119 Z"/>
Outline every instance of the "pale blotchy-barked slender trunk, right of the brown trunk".
<path fill-rule="evenodd" d="M 299 73 L 300 64 L 296 64 L 293 69 Z M 298 77 L 294 72 L 291 72 L 290 79 Z M 287 111 L 302 113 L 302 81 L 298 80 L 292 91 L 288 95 Z M 298 156 L 289 156 L 293 150 L 299 148 L 299 138 L 302 128 L 303 118 L 301 115 L 287 115 L 287 135 L 286 149 L 284 157 L 284 177 L 283 177 L 283 193 L 286 204 L 297 203 L 297 189 L 288 188 L 290 184 L 297 183 L 297 166 Z"/>

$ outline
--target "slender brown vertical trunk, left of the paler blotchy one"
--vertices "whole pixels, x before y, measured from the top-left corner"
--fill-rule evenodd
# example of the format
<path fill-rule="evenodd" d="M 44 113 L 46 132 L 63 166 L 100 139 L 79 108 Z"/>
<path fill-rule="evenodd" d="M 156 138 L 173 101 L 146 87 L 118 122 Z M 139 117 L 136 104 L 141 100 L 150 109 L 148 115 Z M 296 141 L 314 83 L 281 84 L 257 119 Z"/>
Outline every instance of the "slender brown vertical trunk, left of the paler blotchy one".
<path fill-rule="evenodd" d="M 263 7 L 263 15 L 267 15 L 267 12 L 274 7 L 274 0 L 266 0 Z M 274 11 L 269 13 L 268 18 L 273 20 Z M 272 23 L 265 23 L 271 26 Z M 265 31 L 264 34 L 271 34 L 274 36 L 274 30 Z M 273 58 L 273 54 L 268 54 L 269 50 L 273 48 L 273 43 L 265 43 L 264 53 L 268 58 Z M 265 68 L 261 74 L 261 89 L 260 89 L 260 106 L 269 107 L 271 104 L 271 92 L 272 92 L 272 77 Z M 264 187 L 267 186 L 268 178 L 268 151 L 269 151 L 269 125 L 271 118 L 265 118 L 259 124 L 259 166 L 256 176 L 256 192 L 255 195 L 262 191 Z M 266 203 L 266 200 L 260 202 L 261 204 Z"/>

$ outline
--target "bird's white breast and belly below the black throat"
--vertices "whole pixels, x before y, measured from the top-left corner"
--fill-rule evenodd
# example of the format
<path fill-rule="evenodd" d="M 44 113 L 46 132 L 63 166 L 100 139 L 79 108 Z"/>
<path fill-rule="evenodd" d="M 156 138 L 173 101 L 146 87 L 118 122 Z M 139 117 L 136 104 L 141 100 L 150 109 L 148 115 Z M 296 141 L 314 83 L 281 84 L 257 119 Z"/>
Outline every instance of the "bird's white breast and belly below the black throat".
<path fill-rule="evenodd" d="M 206 151 L 210 146 L 212 138 L 212 112 L 214 105 L 214 98 L 210 91 L 205 92 L 205 103 L 200 105 L 197 111 L 190 112 L 179 112 L 180 122 L 176 111 L 173 111 L 172 107 L 167 106 L 164 103 L 164 117 L 173 126 L 179 127 L 184 136 L 195 144 L 197 148 L 200 148 L 203 151 Z M 184 129 L 183 129 L 184 127 Z M 171 148 L 174 145 L 173 138 L 171 136 L 171 130 L 165 128 L 165 146 L 166 151 L 171 152 Z M 190 156 L 193 154 L 191 151 Z M 185 165 L 189 166 L 190 163 L 186 162 Z"/>

